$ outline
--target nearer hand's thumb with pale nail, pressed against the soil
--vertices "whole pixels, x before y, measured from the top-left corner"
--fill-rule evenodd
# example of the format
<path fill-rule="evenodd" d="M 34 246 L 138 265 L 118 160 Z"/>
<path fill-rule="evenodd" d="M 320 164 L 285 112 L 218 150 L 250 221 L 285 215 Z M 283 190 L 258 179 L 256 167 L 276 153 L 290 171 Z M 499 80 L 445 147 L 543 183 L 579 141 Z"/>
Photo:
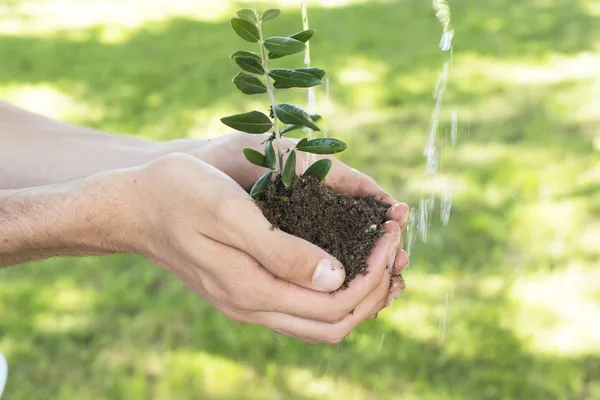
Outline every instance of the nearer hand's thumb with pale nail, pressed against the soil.
<path fill-rule="evenodd" d="M 274 229 L 249 198 L 233 200 L 228 208 L 221 230 L 225 243 L 249 254 L 273 275 L 321 292 L 333 292 L 344 283 L 346 272 L 337 259 L 304 239 Z"/>

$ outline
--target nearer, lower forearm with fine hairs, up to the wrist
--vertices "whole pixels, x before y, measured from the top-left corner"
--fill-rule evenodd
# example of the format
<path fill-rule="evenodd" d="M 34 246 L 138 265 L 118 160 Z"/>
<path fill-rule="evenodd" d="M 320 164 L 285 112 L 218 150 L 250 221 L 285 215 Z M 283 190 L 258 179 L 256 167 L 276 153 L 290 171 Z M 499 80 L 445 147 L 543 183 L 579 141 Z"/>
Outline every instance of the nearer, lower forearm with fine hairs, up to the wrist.
<path fill-rule="evenodd" d="M 0 191 L 0 267 L 53 256 L 124 251 L 131 208 L 115 193 L 126 184 L 94 176 L 31 189 Z"/>

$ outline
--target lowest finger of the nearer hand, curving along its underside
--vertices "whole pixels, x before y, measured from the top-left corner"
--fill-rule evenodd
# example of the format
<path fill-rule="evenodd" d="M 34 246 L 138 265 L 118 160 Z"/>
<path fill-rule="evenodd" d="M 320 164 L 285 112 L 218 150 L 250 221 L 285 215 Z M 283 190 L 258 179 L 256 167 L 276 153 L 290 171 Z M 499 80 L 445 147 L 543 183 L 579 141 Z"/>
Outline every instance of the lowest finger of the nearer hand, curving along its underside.
<path fill-rule="evenodd" d="M 389 278 L 389 273 L 388 273 Z M 377 289 L 356 307 L 352 314 L 337 324 L 305 320 L 288 314 L 259 313 L 257 323 L 304 341 L 335 344 L 344 340 L 361 322 L 371 318 L 386 305 L 389 279 L 382 280 Z"/>

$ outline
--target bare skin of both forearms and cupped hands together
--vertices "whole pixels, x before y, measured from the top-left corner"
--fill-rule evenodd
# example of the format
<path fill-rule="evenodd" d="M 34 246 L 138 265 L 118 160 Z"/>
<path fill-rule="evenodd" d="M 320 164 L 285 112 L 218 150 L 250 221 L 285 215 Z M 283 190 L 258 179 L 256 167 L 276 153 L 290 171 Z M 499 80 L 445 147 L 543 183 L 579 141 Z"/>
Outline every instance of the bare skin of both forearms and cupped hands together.
<path fill-rule="evenodd" d="M 333 159 L 326 185 L 373 194 L 390 210 L 370 273 L 332 296 L 345 279 L 341 264 L 272 230 L 247 194 L 265 170 L 251 166 L 242 149 L 264 139 L 235 133 L 148 142 L 0 103 L 0 140 L 10 144 L 0 148 L 0 266 L 138 253 L 229 318 L 337 343 L 403 290 L 392 275 L 408 264 L 400 250 L 408 207 Z"/>

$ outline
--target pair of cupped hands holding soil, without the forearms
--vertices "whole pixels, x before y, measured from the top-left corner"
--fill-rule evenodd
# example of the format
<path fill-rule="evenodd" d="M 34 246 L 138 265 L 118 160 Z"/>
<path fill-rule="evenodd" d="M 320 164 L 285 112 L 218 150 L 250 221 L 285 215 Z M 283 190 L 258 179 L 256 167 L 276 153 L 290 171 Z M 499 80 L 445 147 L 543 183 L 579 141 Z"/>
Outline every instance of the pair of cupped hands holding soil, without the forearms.
<path fill-rule="evenodd" d="M 350 196 L 375 195 L 390 209 L 369 273 L 331 295 L 345 279 L 339 261 L 273 230 L 247 194 L 265 170 L 250 165 L 242 149 L 259 148 L 264 139 L 232 134 L 200 146 L 177 141 L 173 154 L 123 170 L 119 190 L 136 204 L 128 230 L 137 233 L 123 246 L 171 271 L 233 320 L 311 343 L 338 343 L 404 290 L 396 275 L 408 265 L 401 250 L 408 206 L 333 159 L 325 185 Z"/>

